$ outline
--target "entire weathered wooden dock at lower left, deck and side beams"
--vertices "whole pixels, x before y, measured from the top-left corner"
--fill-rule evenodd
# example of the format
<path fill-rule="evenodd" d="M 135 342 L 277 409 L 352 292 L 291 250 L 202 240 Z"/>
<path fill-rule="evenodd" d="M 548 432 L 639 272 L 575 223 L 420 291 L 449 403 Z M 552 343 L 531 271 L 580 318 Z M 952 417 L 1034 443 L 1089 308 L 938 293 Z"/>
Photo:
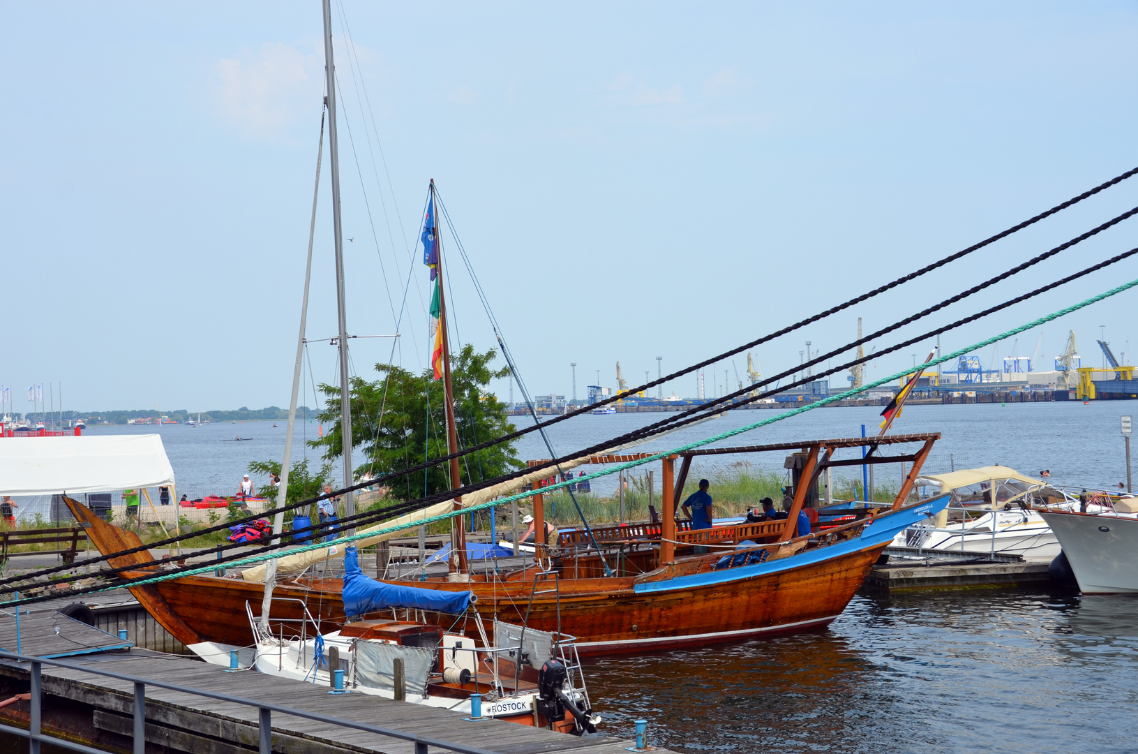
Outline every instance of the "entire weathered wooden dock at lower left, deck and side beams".
<path fill-rule="evenodd" d="M 192 656 L 130 647 L 48 609 L 22 613 L 20 634 L 25 659 L 42 658 L 40 704 L 33 715 L 32 663 L 0 659 L 0 698 L 8 699 L 0 706 L 0 728 L 26 731 L 39 719 L 44 735 L 101 752 L 143 754 L 134 740 L 143 720 L 146 754 L 622 754 L 635 746 L 603 735 L 471 721 L 442 707 L 351 689 L 330 694 L 325 686 L 254 670 L 229 672 Z M 7 653 L 15 651 L 14 637 L 15 615 L 0 615 Z M 25 696 L 9 698 L 17 695 Z M 262 721 L 269 721 L 271 738 L 262 737 Z"/>

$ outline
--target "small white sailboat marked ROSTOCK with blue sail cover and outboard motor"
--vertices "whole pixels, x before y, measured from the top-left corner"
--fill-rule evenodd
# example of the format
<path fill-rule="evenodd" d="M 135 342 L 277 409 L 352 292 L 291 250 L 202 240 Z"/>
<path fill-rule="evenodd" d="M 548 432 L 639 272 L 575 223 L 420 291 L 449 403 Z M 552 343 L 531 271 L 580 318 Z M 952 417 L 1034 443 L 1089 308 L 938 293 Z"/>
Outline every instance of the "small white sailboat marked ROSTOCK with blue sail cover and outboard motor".
<path fill-rule="evenodd" d="M 189 649 L 212 664 L 308 681 L 333 691 L 403 696 L 411 704 L 467 718 L 496 718 L 560 732 L 596 731 L 601 719 L 588 702 L 574 637 L 495 620 L 492 645 L 470 592 L 377 582 L 360 571 L 355 548 L 349 546 L 347 552 L 345 609 L 382 620 L 354 620 L 338 631 L 322 632 L 302 600 L 270 597 L 271 606 L 287 608 L 278 612 L 300 617 L 278 617 L 271 608 L 267 616 L 255 616 L 246 603 L 251 656 L 248 648 L 214 642 Z M 475 610 L 479 640 L 426 620 L 428 612 L 468 609 Z"/>

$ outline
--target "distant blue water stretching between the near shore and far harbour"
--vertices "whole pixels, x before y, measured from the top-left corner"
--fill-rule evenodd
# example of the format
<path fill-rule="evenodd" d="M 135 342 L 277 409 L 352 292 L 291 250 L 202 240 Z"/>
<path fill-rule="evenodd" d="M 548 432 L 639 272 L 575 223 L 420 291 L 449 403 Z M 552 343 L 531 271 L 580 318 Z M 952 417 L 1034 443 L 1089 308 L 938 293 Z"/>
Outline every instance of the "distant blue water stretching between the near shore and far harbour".
<path fill-rule="evenodd" d="M 819 437 L 850 437 L 859 435 L 861 425 L 874 434 L 881 420 L 880 408 L 816 409 L 773 425 L 752 429 L 716 445 L 744 445 Z M 1025 474 L 1050 469 L 1056 484 L 1080 486 L 1110 486 L 1125 481 L 1125 454 L 1119 434 L 1119 417 L 1138 413 L 1138 403 L 1131 401 L 1100 401 L 1089 405 L 1079 402 L 1008 403 L 967 405 L 910 405 L 894 424 L 896 432 L 940 432 L 930 458 L 927 470 L 940 473 L 949 468 L 970 468 L 1000 464 Z M 726 416 L 687 427 L 636 448 L 668 450 L 695 440 L 769 419 L 775 410 L 728 411 Z M 646 426 L 668 415 L 615 413 L 585 415 L 551 427 L 547 431 L 554 451 L 569 453 L 608 437 Z M 519 427 L 533 423 L 514 417 Z M 88 434 L 147 434 L 162 435 L 166 454 L 174 467 L 179 495 L 190 498 L 206 494 L 232 494 L 241 475 L 251 460 L 281 460 L 284 452 L 284 421 L 273 427 L 271 421 L 217 423 L 199 427 L 183 425 L 163 426 L 94 426 Z M 294 459 L 312 458 L 319 465 L 320 453 L 305 446 L 314 440 L 319 425 L 297 423 L 292 445 Z M 250 437 L 232 442 L 233 437 Z M 518 457 L 549 458 L 539 433 L 526 435 L 517 442 Z M 846 451 L 851 457 L 857 451 Z M 734 457 L 721 457 L 728 464 Z M 782 469 L 783 454 L 753 456 L 750 462 L 766 468 Z M 711 462 L 711 461 L 709 461 Z M 658 467 L 658 466 L 657 466 Z M 335 474 L 338 476 L 338 467 Z M 859 474 L 860 472 L 852 472 Z M 882 467 L 880 482 L 900 469 Z M 255 482 L 257 480 L 254 480 Z M 657 481 L 659 486 L 660 482 Z M 616 489 L 616 480 L 607 477 L 594 483 L 602 493 Z M 714 494 L 714 492 L 712 492 Z"/>

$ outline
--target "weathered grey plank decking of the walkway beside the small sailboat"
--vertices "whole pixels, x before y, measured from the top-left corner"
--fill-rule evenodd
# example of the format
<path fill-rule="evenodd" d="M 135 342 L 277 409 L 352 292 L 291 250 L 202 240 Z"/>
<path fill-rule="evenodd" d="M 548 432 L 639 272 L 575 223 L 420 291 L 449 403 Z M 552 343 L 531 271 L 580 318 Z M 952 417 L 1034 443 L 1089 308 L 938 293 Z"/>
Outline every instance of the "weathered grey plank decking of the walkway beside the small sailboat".
<path fill-rule="evenodd" d="M 113 662 L 107 663 L 107 659 Z M 221 667 L 190 658 L 146 650 L 114 656 L 86 656 L 76 662 L 84 666 L 104 665 L 117 673 L 160 679 L 163 682 L 256 699 L 329 718 L 382 726 L 502 754 L 569 751 L 618 754 L 630 745 L 630 741 L 615 738 L 578 738 L 501 720 L 468 722 L 462 714 L 438 707 L 394 702 L 358 692 L 330 695 L 323 686 L 272 678 L 254 671 L 226 673 Z M 0 673 L 9 677 L 26 675 L 26 670 L 5 664 L 0 666 Z M 48 695 L 93 705 L 100 728 L 122 728 L 124 719 L 121 715 L 131 713 L 133 687 L 130 681 L 50 665 L 44 665 L 42 673 Z M 310 754 L 321 749 L 362 754 L 414 752 L 413 741 L 343 728 L 323 720 L 273 713 L 272 724 L 273 751 L 280 754 Z M 213 746 L 218 741 L 254 749 L 257 745 L 256 707 L 151 686 L 147 687 L 147 727 L 149 740 L 196 741 L 192 751 L 200 753 L 216 749 L 215 754 L 226 754 L 224 745 Z"/>

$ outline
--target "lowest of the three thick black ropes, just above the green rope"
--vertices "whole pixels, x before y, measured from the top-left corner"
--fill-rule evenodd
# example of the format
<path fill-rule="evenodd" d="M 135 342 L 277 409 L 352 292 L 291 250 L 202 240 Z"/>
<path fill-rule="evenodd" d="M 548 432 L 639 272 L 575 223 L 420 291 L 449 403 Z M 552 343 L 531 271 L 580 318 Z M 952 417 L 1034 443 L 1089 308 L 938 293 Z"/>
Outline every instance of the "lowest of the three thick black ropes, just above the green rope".
<path fill-rule="evenodd" d="M 736 391 L 733 394 L 726 395 L 726 396 L 724 396 L 721 399 L 717 399 L 717 402 L 732 401 L 733 399 L 743 398 L 743 400 L 734 401 L 732 403 L 732 405 L 733 407 L 745 405 L 748 403 L 752 403 L 752 402 L 761 400 L 764 398 L 768 398 L 770 395 L 776 395 L 778 393 L 783 393 L 783 392 L 785 392 L 787 390 L 791 390 L 793 387 L 797 387 L 799 385 L 805 385 L 807 383 L 814 382 L 818 377 L 825 377 L 827 375 L 832 375 L 832 374 L 844 371 L 846 369 L 855 367 L 855 366 L 857 366 L 859 363 L 866 363 L 868 361 L 872 361 L 873 359 L 879 359 L 879 358 L 881 358 L 881 356 L 883 356 L 885 354 L 893 353 L 893 352 L 896 352 L 896 351 L 898 351 L 900 349 L 907 347 L 907 346 L 913 345 L 915 343 L 918 343 L 921 341 L 926 341 L 927 338 L 934 337 L 934 336 L 943 334 L 943 333 L 946 333 L 948 330 L 955 329 L 955 328 L 960 327 L 963 325 L 967 325 L 970 322 L 973 322 L 973 321 L 975 321 L 978 319 L 981 319 L 983 317 L 987 317 L 989 314 L 993 314 L 993 313 L 996 313 L 998 311 L 1001 311 L 1001 310 L 1007 309 L 1009 306 L 1013 306 L 1015 304 L 1019 304 L 1019 303 L 1022 303 L 1024 301 L 1028 301 L 1029 298 L 1032 298 L 1034 296 L 1038 296 L 1038 295 L 1041 295 L 1044 293 L 1047 293 L 1047 292 L 1049 292 L 1049 290 L 1052 290 L 1054 288 L 1057 288 L 1057 287 L 1063 286 L 1063 285 L 1065 285 L 1067 282 L 1077 280 L 1077 279 L 1079 279 L 1081 277 L 1090 274 L 1091 272 L 1102 270 L 1102 269 L 1104 269 L 1106 267 L 1110 267 L 1112 264 L 1121 262 L 1122 260 L 1129 259 L 1130 256 L 1133 256 L 1135 254 L 1138 254 L 1138 247 L 1132 248 L 1132 249 L 1130 249 L 1128 252 L 1123 252 L 1121 254 L 1118 254 L 1118 255 L 1115 255 L 1115 256 L 1113 256 L 1113 257 L 1111 257 L 1108 260 L 1099 262 L 1098 264 L 1091 265 L 1091 267 L 1086 268 L 1086 269 L 1083 269 L 1083 270 L 1081 270 L 1079 272 L 1075 272 L 1075 273 L 1072 273 L 1070 276 L 1066 276 L 1065 278 L 1062 278 L 1062 279 L 1056 280 L 1054 282 L 1049 282 L 1049 284 L 1047 284 L 1045 286 L 1036 288 L 1034 290 L 1031 290 L 1029 293 L 1022 294 L 1020 296 L 1016 296 L 1015 298 L 1011 298 L 1008 301 L 1005 301 L 1005 302 L 1001 302 L 999 304 L 996 304 L 995 306 L 991 306 L 991 308 L 989 308 L 989 309 L 987 309 L 984 311 L 981 311 L 981 312 L 978 312 L 975 314 L 971 314 L 968 317 L 958 319 L 955 322 L 951 322 L 949 325 L 945 325 L 945 326 L 935 328 L 933 330 L 929 330 L 927 333 L 924 333 L 922 335 L 915 336 L 913 338 L 909 338 L 909 339 L 904 341 L 901 343 L 898 343 L 896 345 L 889 346 L 889 347 L 887 347 L 887 349 L 884 349 L 882 351 L 877 351 L 877 352 L 875 352 L 873 354 L 869 354 L 869 355 L 866 355 L 866 356 L 863 356 L 863 358 L 859 358 L 859 359 L 852 359 L 852 360 L 850 360 L 850 361 L 848 361 L 848 362 L 846 362 L 843 364 L 839 364 L 838 367 L 833 367 L 831 369 L 825 369 L 825 370 L 820 371 L 818 375 L 815 375 L 815 376 L 811 376 L 811 377 L 808 377 L 808 378 L 802 378 L 802 379 L 799 379 L 797 382 L 790 383 L 787 385 L 780 386 L 780 387 L 776 387 L 775 390 L 766 391 L 764 393 L 759 393 L 759 394 L 756 394 L 756 395 L 747 395 L 747 393 L 750 393 L 751 391 L 754 390 L 753 386 L 749 386 L 749 387 L 743 388 L 742 391 Z M 950 302 L 950 301 L 951 300 L 947 300 L 946 302 L 942 302 L 941 304 L 938 304 L 937 309 L 940 309 L 940 308 L 943 308 L 943 306 L 948 305 L 948 302 Z M 842 351 L 847 351 L 850 347 L 851 346 L 847 345 L 847 346 L 844 346 L 842 349 Z M 801 369 L 801 364 L 799 366 L 798 369 L 794 369 L 793 371 L 789 371 L 786 374 L 787 375 L 789 374 L 793 374 L 794 371 L 799 371 L 800 369 Z M 778 379 L 778 378 L 777 377 L 773 377 L 770 379 L 773 382 L 773 380 Z M 674 428 L 677 428 L 679 426 L 684 426 L 684 425 L 691 424 L 693 421 L 699 421 L 699 420 L 703 419 L 704 418 L 703 416 L 694 416 L 694 413 L 696 413 L 696 412 L 701 412 L 702 413 L 702 412 L 704 412 L 704 409 L 707 407 L 710 407 L 710 405 L 711 404 L 709 403 L 709 404 L 706 404 L 706 407 L 699 407 L 698 410 L 693 409 L 692 411 L 687 411 L 684 415 L 675 417 L 675 419 L 679 419 L 681 417 L 686 416 L 686 418 L 684 418 L 684 420 L 682 420 L 682 421 L 671 421 L 671 420 L 668 420 L 667 423 L 673 425 L 673 426 L 669 426 L 668 429 L 674 429 Z M 651 425 L 651 426 L 658 426 L 660 424 L 665 424 L 665 423 L 657 423 L 657 425 Z M 633 433 L 627 433 L 626 435 L 624 435 L 624 437 L 633 437 L 634 435 L 640 435 L 640 434 L 645 434 L 645 433 L 649 434 L 649 435 L 651 435 L 651 434 L 654 434 L 655 432 L 659 432 L 659 428 L 657 428 L 654 431 L 650 431 L 651 426 L 650 427 L 644 427 L 643 429 L 640 429 L 640 431 L 636 431 L 636 432 L 633 432 Z M 478 484 L 471 484 L 471 485 L 468 485 L 465 487 L 460 487 L 457 490 L 444 491 L 444 492 L 440 492 L 440 493 L 436 493 L 435 495 L 429 495 L 429 497 L 420 498 L 419 500 L 409 501 L 406 503 L 403 503 L 401 506 L 393 507 L 393 508 L 385 508 L 385 509 L 381 509 L 381 510 L 378 510 L 378 511 L 370 511 L 368 514 L 357 514 L 354 517 L 348 517 L 348 518 L 345 518 L 343 521 L 329 522 L 327 524 L 321 525 L 321 527 L 324 527 L 324 528 L 327 528 L 327 527 L 333 527 L 333 526 L 341 527 L 343 524 L 344 524 L 344 522 L 347 522 L 351 518 L 360 519 L 360 523 L 370 523 L 370 522 L 373 522 L 373 521 L 394 518 L 394 517 L 396 517 L 397 514 L 403 513 L 402 509 L 405 509 L 405 508 L 409 508 L 409 507 L 413 507 L 411 509 L 418 510 L 418 509 L 424 508 L 424 507 L 427 507 L 429 505 L 434 505 L 435 502 L 442 502 L 444 500 L 452 499 L 455 494 L 469 494 L 470 492 L 475 492 L 477 490 L 484 489 L 484 487 L 489 486 L 492 484 L 498 484 L 498 483 L 501 483 L 503 481 L 506 481 L 506 480 L 510 480 L 510 478 L 514 478 L 514 477 L 520 476 L 522 474 L 529 474 L 529 473 L 531 473 L 534 470 L 539 470 L 539 469 L 543 469 L 543 468 L 553 467 L 553 466 L 555 466 L 558 464 L 563 464 L 563 462 L 572 460 L 575 458 L 580 458 L 582 456 L 587 456 L 587 454 L 592 454 L 592 453 L 595 453 L 595 452 L 601 452 L 601 451 L 603 451 L 603 450 L 605 450 L 608 448 L 611 448 L 612 444 L 613 444 L 613 441 L 611 441 L 611 440 L 610 441 L 605 441 L 603 443 L 593 445 L 592 448 L 587 448 L 585 450 L 577 451 L 577 452 L 574 452 L 574 453 L 571 453 L 569 456 L 563 456 L 563 457 L 561 457 L 559 459 L 553 459 L 553 460 L 546 461 L 544 464 L 541 464 L 541 465 L 537 465 L 537 466 L 534 466 L 534 467 L 530 467 L 530 468 L 521 469 L 519 472 L 512 473 L 510 475 L 504 475 L 504 476 L 497 477 L 495 480 L 487 480 L 485 482 L 481 482 L 481 483 L 478 483 Z M 396 508 L 398 508 L 401 510 L 396 510 Z M 315 527 L 314 531 L 316 531 L 320 527 Z M 263 547 L 263 548 L 258 548 L 258 549 L 256 549 L 256 550 L 254 550 L 251 552 L 250 551 L 246 551 L 246 552 L 236 554 L 236 555 L 232 555 L 232 556 L 229 556 L 229 557 L 225 557 L 225 558 L 221 558 L 221 559 L 217 560 L 217 563 L 226 563 L 229 560 L 240 559 L 240 558 L 244 558 L 244 557 L 249 557 L 251 555 L 258 555 L 258 554 L 262 554 L 262 552 L 267 552 L 267 551 L 271 551 L 271 550 L 275 550 L 275 549 L 280 549 L 280 548 L 284 548 L 284 547 L 291 547 L 291 546 L 292 546 L 292 543 L 290 543 L 290 542 L 279 542 L 277 544 L 270 544 L 270 546 L 266 546 L 266 547 Z M 152 546 L 143 546 L 143 547 L 132 548 L 130 550 L 124 550 L 122 552 L 115 552 L 115 554 L 112 554 L 112 555 L 102 556 L 100 558 L 92 558 L 88 563 L 94 563 L 97 560 L 105 560 L 105 559 L 108 559 L 108 558 L 112 558 L 112 557 L 122 557 L 124 555 L 129 555 L 129 554 L 133 554 L 133 552 L 139 552 L 141 550 L 150 549 L 150 547 L 152 547 Z M 231 547 L 241 547 L 241 546 L 231 546 Z M 217 551 L 216 548 L 211 548 L 211 549 L 207 549 L 207 550 L 201 550 L 201 551 L 196 552 L 196 554 L 190 554 L 190 555 L 184 555 L 184 556 L 171 556 L 171 557 L 164 558 L 162 560 L 148 562 L 148 563 L 142 564 L 142 565 L 131 565 L 131 566 L 123 566 L 123 567 L 113 568 L 113 569 L 110 569 L 110 573 L 117 573 L 117 572 L 121 572 L 121 571 L 137 571 L 140 567 L 148 567 L 148 566 L 159 565 L 159 564 L 163 564 L 163 563 L 170 563 L 170 562 L 181 560 L 181 559 L 187 558 L 187 557 L 197 557 L 198 555 L 208 555 L 208 554 L 212 554 L 212 552 L 215 552 L 215 551 Z M 36 575 L 36 576 L 39 576 L 39 575 L 47 575 L 49 573 L 55 573 L 55 572 L 59 572 L 59 571 L 72 569 L 73 567 L 74 566 L 57 566 L 55 568 L 44 568 L 44 569 L 38 572 L 34 575 Z M 171 573 L 179 573 L 180 571 L 188 571 L 191 567 L 200 567 L 200 566 L 185 566 L 184 568 L 173 569 L 173 571 L 171 571 Z M 23 576 L 23 579 L 27 579 L 27 577 L 30 577 L 30 576 Z M 15 580 L 18 580 L 18 579 L 20 579 L 20 576 L 14 576 L 14 577 L 5 580 L 3 582 L 0 582 L 0 583 L 10 583 L 11 581 L 15 581 Z M 11 591 L 15 591 L 16 589 L 17 588 L 0 589 L 0 593 L 11 592 Z M 86 589 L 86 590 L 73 591 L 73 592 L 69 592 L 69 593 L 80 595 L 80 593 L 85 593 L 86 591 L 98 591 L 99 589 L 101 589 L 101 588 L 100 587 L 96 587 L 96 588 L 90 588 L 90 589 Z M 40 599 L 36 598 L 35 601 L 40 601 Z M 23 601 L 20 604 L 23 604 Z"/>

